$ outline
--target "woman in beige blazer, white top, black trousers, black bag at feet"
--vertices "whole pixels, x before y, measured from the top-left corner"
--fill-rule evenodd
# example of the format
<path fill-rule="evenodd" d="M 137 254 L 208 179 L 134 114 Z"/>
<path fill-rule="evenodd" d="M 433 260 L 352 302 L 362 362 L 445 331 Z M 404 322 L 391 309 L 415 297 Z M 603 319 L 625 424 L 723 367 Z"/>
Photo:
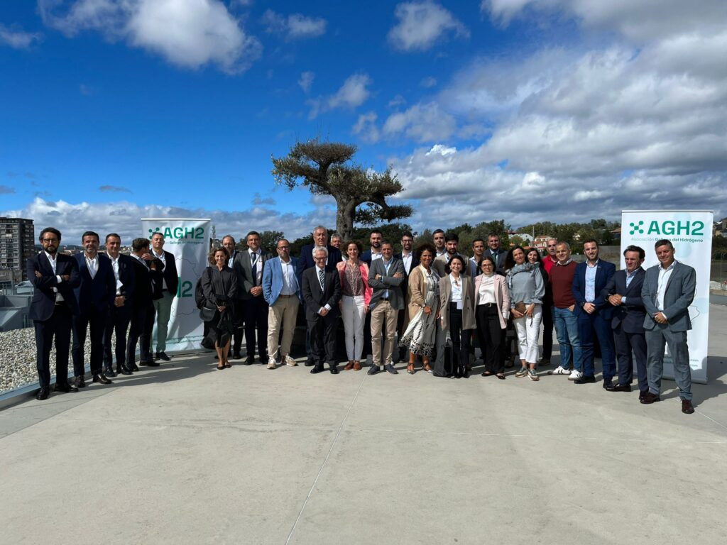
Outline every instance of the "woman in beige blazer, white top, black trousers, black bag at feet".
<path fill-rule="evenodd" d="M 449 275 L 439 279 L 439 319 L 442 333 L 451 339 L 451 370 L 435 367 L 435 376 L 470 376 L 470 336 L 475 328 L 475 291 L 470 275 L 462 274 L 465 259 L 449 260 Z M 444 361 L 444 358 L 439 358 Z"/>

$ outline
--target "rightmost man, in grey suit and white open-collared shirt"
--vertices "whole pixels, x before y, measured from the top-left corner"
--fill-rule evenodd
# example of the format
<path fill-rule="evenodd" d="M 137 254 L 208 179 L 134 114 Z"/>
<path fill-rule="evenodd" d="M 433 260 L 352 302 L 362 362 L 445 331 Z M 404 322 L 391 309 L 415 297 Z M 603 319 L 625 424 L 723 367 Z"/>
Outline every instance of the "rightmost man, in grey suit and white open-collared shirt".
<path fill-rule="evenodd" d="M 686 332 L 691 329 L 689 305 L 694 300 L 696 272 L 692 267 L 674 259 L 671 241 L 656 241 L 659 265 L 649 267 L 641 288 L 646 308 L 643 326 L 646 328 L 646 372 L 648 392 L 641 403 L 660 401 L 664 373 L 664 344 L 669 347 L 674 366 L 674 378 L 679 387 L 682 412 L 694 413 L 691 404 L 691 368 Z"/>

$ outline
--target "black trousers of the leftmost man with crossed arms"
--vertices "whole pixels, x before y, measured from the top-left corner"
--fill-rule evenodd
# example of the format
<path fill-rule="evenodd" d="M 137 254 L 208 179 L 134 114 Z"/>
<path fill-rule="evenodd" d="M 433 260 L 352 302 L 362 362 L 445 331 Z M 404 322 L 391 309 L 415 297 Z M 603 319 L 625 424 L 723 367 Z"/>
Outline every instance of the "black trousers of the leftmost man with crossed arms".
<path fill-rule="evenodd" d="M 55 382 L 68 384 L 68 350 L 71 348 L 71 310 L 57 304 L 47 320 L 33 320 L 36 330 L 36 368 L 41 388 L 50 387 L 50 349 L 55 341 Z"/>

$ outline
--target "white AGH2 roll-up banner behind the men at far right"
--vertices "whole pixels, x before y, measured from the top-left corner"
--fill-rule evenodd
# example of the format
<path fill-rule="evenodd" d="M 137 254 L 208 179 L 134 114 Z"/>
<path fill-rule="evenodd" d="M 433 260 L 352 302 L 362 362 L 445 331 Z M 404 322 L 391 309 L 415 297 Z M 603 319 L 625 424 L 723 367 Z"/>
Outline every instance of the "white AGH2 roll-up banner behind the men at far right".
<path fill-rule="evenodd" d="M 696 271 L 696 293 L 689 306 L 689 365 L 694 382 L 707 382 L 707 340 L 710 329 L 710 260 L 712 221 L 707 210 L 624 210 L 621 214 L 621 253 L 630 244 L 646 251 L 643 268 L 659 265 L 654 243 L 662 238 L 672 242 L 674 257 Z M 623 268 L 622 264 L 622 268 Z M 667 347 L 664 377 L 674 378 L 672 358 Z"/>

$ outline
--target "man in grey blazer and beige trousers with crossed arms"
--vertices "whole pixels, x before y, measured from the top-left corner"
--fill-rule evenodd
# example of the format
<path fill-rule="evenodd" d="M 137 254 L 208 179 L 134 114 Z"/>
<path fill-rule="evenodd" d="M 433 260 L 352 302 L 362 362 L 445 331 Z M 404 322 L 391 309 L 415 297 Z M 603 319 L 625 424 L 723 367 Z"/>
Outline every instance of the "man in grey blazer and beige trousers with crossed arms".
<path fill-rule="evenodd" d="M 369 310 L 371 311 L 371 355 L 372 363 L 369 375 L 375 375 L 383 366 L 391 374 L 398 371 L 391 364 L 394 349 L 394 336 L 399 311 L 404 307 L 401 283 L 406 277 L 401 259 L 393 257 L 393 246 L 388 241 L 381 243 L 381 259 L 374 259 L 369 268 L 369 286 L 371 294 Z M 381 350 L 381 331 L 386 322 L 384 350 Z"/>

